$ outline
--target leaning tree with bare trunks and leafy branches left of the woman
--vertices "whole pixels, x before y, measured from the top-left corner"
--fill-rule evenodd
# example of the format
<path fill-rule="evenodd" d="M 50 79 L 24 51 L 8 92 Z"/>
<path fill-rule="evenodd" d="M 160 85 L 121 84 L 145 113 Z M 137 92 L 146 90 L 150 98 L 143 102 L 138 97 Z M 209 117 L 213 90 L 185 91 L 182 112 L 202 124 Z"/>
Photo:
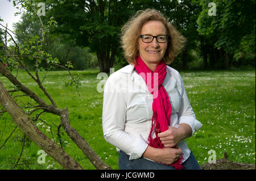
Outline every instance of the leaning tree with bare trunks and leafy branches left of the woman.
<path fill-rule="evenodd" d="M 14 1 L 14 4 L 18 1 Z M 22 7 L 27 11 L 33 12 L 36 14 L 36 10 L 32 1 L 19 1 Z M 87 142 L 80 136 L 80 134 L 69 124 L 69 116 L 68 116 L 68 108 L 61 109 L 57 107 L 55 100 L 52 99 L 49 92 L 42 84 L 42 79 L 39 77 L 38 71 L 43 70 L 46 71 L 40 63 L 42 60 L 46 61 L 49 65 L 61 66 L 59 65 L 59 61 L 56 58 L 52 58 L 47 52 L 42 50 L 44 44 L 44 35 L 46 34 L 46 27 L 42 22 L 42 19 L 38 14 L 36 14 L 39 18 L 41 24 L 41 32 L 42 39 L 38 40 L 38 37 L 32 37 L 31 39 L 27 39 L 24 41 L 22 47 L 19 47 L 16 44 L 15 40 L 9 33 L 9 31 L 4 30 L 6 34 L 9 35 L 9 40 L 12 40 L 14 45 L 8 46 L 6 41 L 4 41 L 1 37 L 1 46 L 3 51 L 5 52 L 0 57 L 0 74 L 5 76 L 11 83 L 13 83 L 15 89 L 7 91 L 3 86 L 2 82 L 0 82 L 0 104 L 4 108 L 4 111 L 1 113 L 8 112 L 13 118 L 14 122 L 18 125 L 18 127 L 30 138 L 36 145 L 40 146 L 48 155 L 50 155 L 53 159 L 55 159 L 61 166 L 65 169 L 82 169 L 82 167 L 77 163 L 73 158 L 71 158 L 65 151 L 60 148 L 59 145 L 56 144 L 55 141 L 52 141 L 45 134 L 43 134 L 35 125 L 36 121 L 40 119 L 40 115 L 42 113 L 53 113 L 60 117 L 60 126 L 64 128 L 64 131 L 68 134 L 68 136 L 72 139 L 73 142 L 76 143 L 77 146 L 83 151 L 83 153 L 88 157 L 90 162 L 96 167 L 96 169 L 111 169 L 108 165 L 106 165 L 100 157 L 90 148 Z M 52 24 L 51 20 L 49 24 Z M 37 41 L 39 45 L 32 45 Z M 36 50 L 35 52 L 31 52 L 28 48 L 32 48 Z M 32 54 L 31 54 L 32 53 Z M 27 69 L 27 67 L 23 64 L 23 58 L 31 58 L 31 61 L 34 61 L 35 65 L 35 75 Z M 11 64 L 15 62 L 15 64 Z M 35 94 L 34 91 L 29 89 L 27 86 L 24 86 L 22 82 L 11 73 L 11 68 L 19 68 L 22 67 L 27 71 L 28 75 L 30 75 L 31 79 L 35 81 L 39 89 L 44 92 L 50 104 L 47 104 L 44 99 Z M 61 66 L 63 67 L 63 66 Z M 71 67 L 71 64 L 67 65 L 68 68 Z M 63 67 L 65 68 L 65 67 Z M 68 69 L 65 68 L 65 69 Z M 70 71 L 69 71 L 70 73 Z M 71 74 L 71 73 L 70 73 Z M 71 74 L 71 81 L 77 81 Z M 23 111 L 23 109 L 14 101 L 14 99 L 10 96 L 9 92 L 21 91 L 24 95 L 28 96 L 31 100 L 34 100 L 35 104 L 30 107 L 32 110 L 29 115 Z M 31 119 L 32 113 L 40 110 L 41 112 L 36 114 L 34 119 Z M 59 126 L 59 127 L 60 127 Z"/>

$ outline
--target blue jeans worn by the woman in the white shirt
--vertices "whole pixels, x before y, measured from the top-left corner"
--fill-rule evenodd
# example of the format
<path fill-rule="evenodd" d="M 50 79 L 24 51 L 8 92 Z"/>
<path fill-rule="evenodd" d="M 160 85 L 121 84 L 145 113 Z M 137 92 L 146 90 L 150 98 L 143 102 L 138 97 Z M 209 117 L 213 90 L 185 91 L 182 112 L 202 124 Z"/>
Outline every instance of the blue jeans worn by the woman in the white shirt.
<path fill-rule="evenodd" d="M 120 170 L 175 170 L 174 167 L 156 163 L 145 158 L 129 160 L 129 155 L 125 152 L 119 152 L 118 166 Z M 188 159 L 182 163 L 183 170 L 201 170 L 192 151 Z"/>

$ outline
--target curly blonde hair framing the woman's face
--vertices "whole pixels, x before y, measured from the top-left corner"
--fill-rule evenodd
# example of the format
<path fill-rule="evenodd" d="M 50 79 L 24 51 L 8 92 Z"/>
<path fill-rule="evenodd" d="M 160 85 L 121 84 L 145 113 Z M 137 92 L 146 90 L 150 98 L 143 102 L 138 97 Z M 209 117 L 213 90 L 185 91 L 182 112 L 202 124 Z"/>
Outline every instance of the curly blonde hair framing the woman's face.
<path fill-rule="evenodd" d="M 167 22 L 167 19 L 164 18 L 163 14 L 154 9 L 137 11 L 137 13 L 122 27 L 121 44 L 126 61 L 129 64 L 136 63 L 135 58 L 139 55 L 138 39 L 141 35 L 141 29 L 143 24 L 150 20 L 158 20 L 166 27 L 167 35 L 169 35 L 170 40 L 168 41 L 166 53 L 163 58 L 166 64 L 171 64 L 177 54 L 179 54 L 180 50 L 184 47 L 186 39 L 170 22 Z"/>

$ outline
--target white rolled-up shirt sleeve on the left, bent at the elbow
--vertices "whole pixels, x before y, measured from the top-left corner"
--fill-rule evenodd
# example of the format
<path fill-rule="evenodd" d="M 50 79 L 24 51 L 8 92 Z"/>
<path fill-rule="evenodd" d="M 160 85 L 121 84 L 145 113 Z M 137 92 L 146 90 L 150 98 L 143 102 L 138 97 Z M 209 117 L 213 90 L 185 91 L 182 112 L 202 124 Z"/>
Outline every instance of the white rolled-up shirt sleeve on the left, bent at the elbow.
<path fill-rule="evenodd" d="M 130 159 L 137 159 L 142 156 L 148 145 L 142 136 L 124 131 L 126 122 L 124 95 L 126 93 L 122 92 L 120 77 L 112 75 L 110 75 L 104 87 L 102 111 L 104 138 L 119 150 L 129 154 Z"/>

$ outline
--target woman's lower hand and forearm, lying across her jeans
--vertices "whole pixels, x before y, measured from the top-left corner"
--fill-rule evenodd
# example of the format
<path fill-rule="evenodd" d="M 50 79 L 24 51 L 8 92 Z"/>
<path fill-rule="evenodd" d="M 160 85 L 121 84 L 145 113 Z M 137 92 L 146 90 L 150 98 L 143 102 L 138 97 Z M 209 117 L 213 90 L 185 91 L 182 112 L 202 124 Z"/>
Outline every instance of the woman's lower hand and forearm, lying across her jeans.
<path fill-rule="evenodd" d="M 147 146 L 146 151 L 143 153 L 144 158 L 152 159 L 155 162 L 172 164 L 180 158 L 182 150 L 180 148 L 152 148 Z"/>

